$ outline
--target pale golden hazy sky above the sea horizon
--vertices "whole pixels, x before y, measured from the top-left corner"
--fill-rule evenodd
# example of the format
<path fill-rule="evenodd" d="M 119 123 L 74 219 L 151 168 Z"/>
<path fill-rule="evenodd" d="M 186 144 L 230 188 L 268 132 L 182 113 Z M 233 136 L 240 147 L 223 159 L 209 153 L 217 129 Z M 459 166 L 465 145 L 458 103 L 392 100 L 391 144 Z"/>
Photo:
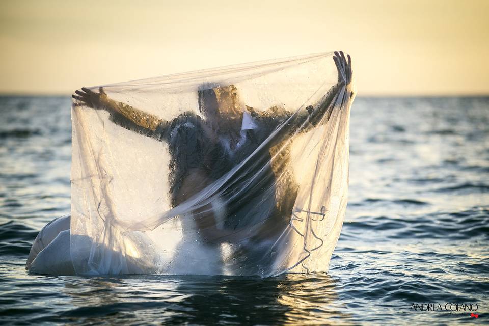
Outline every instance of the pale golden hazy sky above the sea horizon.
<path fill-rule="evenodd" d="M 342 49 L 359 95 L 489 94 L 489 0 L 0 1 L 0 93 Z"/>

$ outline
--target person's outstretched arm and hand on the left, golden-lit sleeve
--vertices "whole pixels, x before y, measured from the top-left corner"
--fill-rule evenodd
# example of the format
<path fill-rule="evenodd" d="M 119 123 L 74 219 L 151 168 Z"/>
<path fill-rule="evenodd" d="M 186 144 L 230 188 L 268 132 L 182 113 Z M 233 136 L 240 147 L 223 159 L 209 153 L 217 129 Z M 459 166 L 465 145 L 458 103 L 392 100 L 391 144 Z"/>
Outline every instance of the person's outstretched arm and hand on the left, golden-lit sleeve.
<path fill-rule="evenodd" d="M 169 123 L 155 115 L 138 110 L 128 104 L 115 101 L 107 96 L 103 88 L 100 87 L 96 93 L 83 87 L 82 91 L 75 91 L 77 95 L 72 95 L 79 103 L 75 105 L 85 105 L 111 113 L 111 120 L 132 131 L 139 131 L 148 136 L 154 135 L 158 128 L 166 128 Z M 125 121 L 124 121 L 125 120 Z"/>

